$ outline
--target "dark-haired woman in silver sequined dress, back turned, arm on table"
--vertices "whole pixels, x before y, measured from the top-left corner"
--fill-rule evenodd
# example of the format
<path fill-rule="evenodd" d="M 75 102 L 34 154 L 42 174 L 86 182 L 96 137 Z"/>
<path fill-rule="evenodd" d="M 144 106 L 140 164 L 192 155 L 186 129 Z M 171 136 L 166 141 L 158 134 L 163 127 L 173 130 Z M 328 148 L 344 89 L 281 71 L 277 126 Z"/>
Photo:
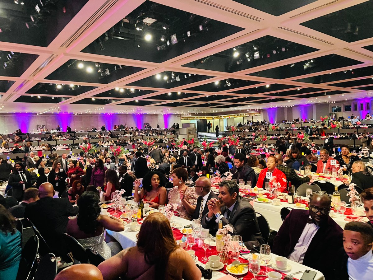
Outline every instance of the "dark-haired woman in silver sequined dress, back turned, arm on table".
<path fill-rule="evenodd" d="M 78 200 L 78 217 L 71 218 L 67 226 L 67 233 L 74 237 L 84 248 L 95 249 L 105 259 L 115 255 L 119 250 L 115 243 L 104 241 L 104 230 L 123 231 L 123 223 L 111 216 L 100 215 L 98 195 L 85 192 Z M 120 246 L 119 246 L 120 247 Z"/>

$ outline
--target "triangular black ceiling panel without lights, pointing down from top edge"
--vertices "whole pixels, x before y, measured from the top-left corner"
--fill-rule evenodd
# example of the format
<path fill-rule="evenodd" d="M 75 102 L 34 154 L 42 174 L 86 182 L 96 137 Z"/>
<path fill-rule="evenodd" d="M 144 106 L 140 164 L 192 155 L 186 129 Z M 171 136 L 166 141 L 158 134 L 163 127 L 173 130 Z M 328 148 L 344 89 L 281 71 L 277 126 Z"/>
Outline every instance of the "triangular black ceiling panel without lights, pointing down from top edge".
<path fill-rule="evenodd" d="M 247 0 L 233 0 L 235 2 L 244 4 L 262 12 L 270 13 L 274 16 L 280 16 L 291 10 L 298 9 L 307 4 L 313 3 L 317 0 L 261 0 L 261 1 L 247 1 Z"/>

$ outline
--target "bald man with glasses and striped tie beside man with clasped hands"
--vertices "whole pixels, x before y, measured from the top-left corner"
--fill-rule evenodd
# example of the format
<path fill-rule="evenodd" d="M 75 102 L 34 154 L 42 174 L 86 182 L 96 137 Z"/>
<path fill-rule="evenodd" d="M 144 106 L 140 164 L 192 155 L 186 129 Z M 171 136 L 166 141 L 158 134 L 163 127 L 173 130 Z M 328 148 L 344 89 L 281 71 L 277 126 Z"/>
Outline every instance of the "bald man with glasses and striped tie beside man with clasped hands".
<path fill-rule="evenodd" d="M 198 195 L 198 199 L 195 211 L 192 214 L 192 220 L 201 220 L 201 218 L 206 216 L 207 212 L 209 212 L 209 209 L 207 208 L 207 202 L 211 198 L 217 199 L 217 195 L 215 195 L 211 191 L 211 182 L 210 179 L 207 177 L 200 177 L 195 181 L 195 192 Z"/>

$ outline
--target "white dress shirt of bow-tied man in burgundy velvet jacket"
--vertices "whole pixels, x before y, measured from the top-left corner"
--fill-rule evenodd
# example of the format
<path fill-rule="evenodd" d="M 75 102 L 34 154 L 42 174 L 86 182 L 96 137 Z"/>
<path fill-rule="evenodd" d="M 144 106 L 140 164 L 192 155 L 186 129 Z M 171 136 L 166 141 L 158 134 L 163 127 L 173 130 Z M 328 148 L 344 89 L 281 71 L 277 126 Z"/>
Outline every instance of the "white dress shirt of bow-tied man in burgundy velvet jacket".
<path fill-rule="evenodd" d="M 311 218 L 311 216 L 309 218 Z M 288 256 L 288 259 L 303 264 L 305 252 L 307 251 L 308 246 L 310 246 L 310 243 L 319 228 L 320 227 L 316 224 L 307 223 L 294 247 L 294 250 Z"/>

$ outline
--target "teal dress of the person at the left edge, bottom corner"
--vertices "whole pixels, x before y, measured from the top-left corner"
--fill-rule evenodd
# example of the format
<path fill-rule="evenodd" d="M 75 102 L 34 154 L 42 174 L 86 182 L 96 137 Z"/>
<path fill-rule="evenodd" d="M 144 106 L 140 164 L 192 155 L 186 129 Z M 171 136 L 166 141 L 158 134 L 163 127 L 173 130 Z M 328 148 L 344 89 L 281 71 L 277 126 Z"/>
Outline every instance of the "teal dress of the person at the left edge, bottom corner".
<path fill-rule="evenodd" d="M 21 261 L 21 233 L 4 233 L 0 230 L 0 279 L 15 280 Z"/>

